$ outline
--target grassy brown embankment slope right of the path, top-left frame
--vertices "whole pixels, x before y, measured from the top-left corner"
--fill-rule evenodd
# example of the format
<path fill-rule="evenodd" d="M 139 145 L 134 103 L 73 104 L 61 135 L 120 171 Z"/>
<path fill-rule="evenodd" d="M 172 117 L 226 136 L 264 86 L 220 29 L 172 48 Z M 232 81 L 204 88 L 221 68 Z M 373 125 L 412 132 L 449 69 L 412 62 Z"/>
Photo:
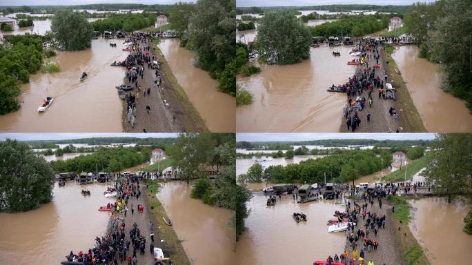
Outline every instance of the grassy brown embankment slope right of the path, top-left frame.
<path fill-rule="evenodd" d="M 176 104 L 180 105 L 180 108 L 183 112 L 183 115 L 179 115 L 181 119 L 181 123 L 184 125 L 184 128 L 187 132 L 206 132 L 208 128 L 205 125 L 204 120 L 200 117 L 199 113 L 193 106 L 190 99 L 188 99 L 186 92 L 181 86 L 179 82 L 175 78 L 172 70 L 170 70 L 170 66 L 166 61 L 166 58 L 162 54 L 159 46 L 157 44 L 152 43 L 151 46 L 155 50 L 155 55 L 159 61 L 161 61 L 161 72 L 164 73 L 164 80 L 167 83 L 167 86 L 173 90 L 175 97 L 176 97 Z"/>

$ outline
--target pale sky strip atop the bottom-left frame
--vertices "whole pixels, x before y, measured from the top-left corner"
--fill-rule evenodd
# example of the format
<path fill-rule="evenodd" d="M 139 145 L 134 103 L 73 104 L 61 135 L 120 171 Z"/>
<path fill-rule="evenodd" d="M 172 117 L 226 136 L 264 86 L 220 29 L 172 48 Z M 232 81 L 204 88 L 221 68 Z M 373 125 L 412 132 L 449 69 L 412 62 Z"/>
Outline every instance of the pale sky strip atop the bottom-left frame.
<path fill-rule="evenodd" d="M 0 141 L 7 138 L 19 141 L 63 140 L 92 137 L 135 137 L 135 138 L 170 138 L 177 133 L 0 133 Z"/>

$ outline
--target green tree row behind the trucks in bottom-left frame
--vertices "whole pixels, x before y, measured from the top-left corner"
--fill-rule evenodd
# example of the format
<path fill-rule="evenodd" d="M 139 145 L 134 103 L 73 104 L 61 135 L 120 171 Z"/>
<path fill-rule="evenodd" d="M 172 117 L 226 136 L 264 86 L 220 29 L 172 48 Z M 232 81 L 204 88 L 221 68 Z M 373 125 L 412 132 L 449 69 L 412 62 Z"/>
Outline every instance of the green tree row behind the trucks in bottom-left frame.
<path fill-rule="evenodd" d="M 50 164 L 56 173 L 61 172 L 95 172 L 99 170 L 119 172 L 150 160 L 150 149 L 135 148 L 102 148 L 91 155 L 81 155 L 68 160 L 51 161 Z"/>

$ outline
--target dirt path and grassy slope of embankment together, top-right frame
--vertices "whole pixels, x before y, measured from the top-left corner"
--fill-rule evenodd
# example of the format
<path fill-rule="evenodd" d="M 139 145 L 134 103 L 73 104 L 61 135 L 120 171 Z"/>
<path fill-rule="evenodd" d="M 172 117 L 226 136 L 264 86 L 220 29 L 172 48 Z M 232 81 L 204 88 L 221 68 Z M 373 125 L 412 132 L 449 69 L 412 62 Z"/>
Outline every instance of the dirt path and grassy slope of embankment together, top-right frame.
<path fill-rule="evenodd" d="M 391 59 L 388 52 L 384 49 L 383 46 L 378 46 L 380 59 L 380 69 L 375 71 L 375 77 L 379 77 L 380 80 L 385 80 L 384 76 L 387 75 L 386 83 L 391 83 L 395 88 L 395 101 L 392 99 L 382 99 L 377 97 L 377 91 L 373 90 L 372 106 L 366 106 L 359 112 L 359 117 L 361 119 L 361 124 L 355 132 L 357 133 L 389 133 L 395 132 L 399 129 L 404 133 L 420 133 L 426 132 L 424 128 L 420 114 L 413 104 L 409 90 L 406 89 L 406 85 L 401 77 L 395 72 L 397 68 L 395 61 Z M 393 63 L 392 63 L 393 61 Z M 373 66 L 375 61 L 371 61 L 370 66 Z M 355 72 L 357 72 L 358 66 L 356 66 Z M 362 97 L 368 99 L 368 90 L 362 92 Z M 389 109 L 395 108 L 398 113 L 398 121 L 393 119 L 393 116 L 389 114 Z M 371 113 L 371 121 L 367 122 L 366 115 Z M 340 124 L 340 133 L 351 132 L 346 126 L 346 118 L 342 118 Z"/>

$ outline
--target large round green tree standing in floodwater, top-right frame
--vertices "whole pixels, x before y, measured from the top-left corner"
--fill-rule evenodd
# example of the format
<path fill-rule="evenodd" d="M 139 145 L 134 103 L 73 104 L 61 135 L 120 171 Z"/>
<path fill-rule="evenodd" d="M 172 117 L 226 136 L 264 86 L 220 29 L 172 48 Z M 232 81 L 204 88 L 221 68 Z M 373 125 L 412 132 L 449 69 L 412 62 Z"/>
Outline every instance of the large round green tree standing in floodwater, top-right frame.
<path fill-rule="evenodd" d="M 256 46 L 267 63 L 297 63 L 310 56 L 311 33 L 291 12 L 266 12 L 259 21 Z"/>

